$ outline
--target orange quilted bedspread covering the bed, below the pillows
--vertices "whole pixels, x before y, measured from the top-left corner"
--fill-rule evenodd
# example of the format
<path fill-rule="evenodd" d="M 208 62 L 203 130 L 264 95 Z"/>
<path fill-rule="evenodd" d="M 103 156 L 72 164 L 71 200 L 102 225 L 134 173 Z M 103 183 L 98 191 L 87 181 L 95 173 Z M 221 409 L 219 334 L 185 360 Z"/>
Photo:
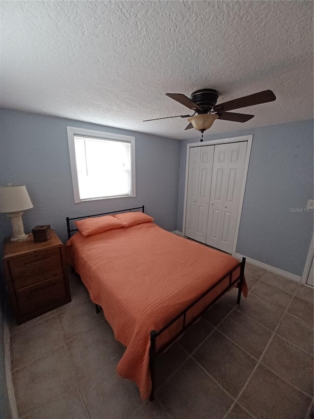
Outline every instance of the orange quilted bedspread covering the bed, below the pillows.
<path fill-rule="evenodd" d="M 151 391 L 150 331 L 161 329 L 239 262 L 154 223 L 88 237 L 78 232 L 67 245 L 91 300 L 103 308 L 115 338 L 127 347 L 117 366 L 119 375 L 134 381 L 141 397 L 147 399 Z M 239 269 L 234 278 L 238 274 Z M 206 301 L 193 307 L 187 322 L 228 283 L 229 279 L 224 280 Z M 243 293 L 246 294 L 246 285 Z M 178 327 L 176 322 L 171 330 L 161 334 L 157 348 Z"/>

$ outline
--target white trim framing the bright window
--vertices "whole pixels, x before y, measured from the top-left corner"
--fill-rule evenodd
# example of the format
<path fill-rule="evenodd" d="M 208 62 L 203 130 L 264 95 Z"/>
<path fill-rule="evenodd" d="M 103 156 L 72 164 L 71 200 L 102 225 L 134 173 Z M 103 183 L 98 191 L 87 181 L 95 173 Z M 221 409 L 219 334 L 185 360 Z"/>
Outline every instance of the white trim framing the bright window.
<path fill-rule="evenodd" d="M 100 199 L 113 199 L 119 198 L 120 196 L 103 196 L 98 198 L 89 198 L 89 199 L 80 199 L 79 190 L 78 190 L 78 170 L 77 163 L 75 158 L 75 145 L 74 145 L 74 136 L 80 135 L 84 137 L 95 137 L 101 138 L 104 140 L 116 140 L 116 141 L 125 141 L 130 142 L 131 144 L 131 194 L 123 195 L 125 197 L 135 197 L 136 196 L 136 185 L 135 185 L 135 138 L 127 135 L 105 133 L 104 131 L 94 131 L 88 130 L 85 128 L 76 128 L 76 127 L 67 127 L 68 133 L 68 143 L 69 143 L 69 152 L 70 152 L 70 163 L 71 163 L 71 173 L 72 173 L 72 183 L 74 191 L 74 202 L 85 202 L 85 201 L 96 201 Z"/>

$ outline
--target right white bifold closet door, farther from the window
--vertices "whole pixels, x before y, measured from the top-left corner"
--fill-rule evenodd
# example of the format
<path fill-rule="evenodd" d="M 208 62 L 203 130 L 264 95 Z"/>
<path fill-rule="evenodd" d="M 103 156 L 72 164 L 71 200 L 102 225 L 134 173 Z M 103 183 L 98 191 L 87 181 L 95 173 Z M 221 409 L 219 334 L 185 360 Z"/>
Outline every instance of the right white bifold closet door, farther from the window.
<path fill-rule="evenodd" d="M 206 244 L 232 253 L 247 142 L 215 145 Z"/>

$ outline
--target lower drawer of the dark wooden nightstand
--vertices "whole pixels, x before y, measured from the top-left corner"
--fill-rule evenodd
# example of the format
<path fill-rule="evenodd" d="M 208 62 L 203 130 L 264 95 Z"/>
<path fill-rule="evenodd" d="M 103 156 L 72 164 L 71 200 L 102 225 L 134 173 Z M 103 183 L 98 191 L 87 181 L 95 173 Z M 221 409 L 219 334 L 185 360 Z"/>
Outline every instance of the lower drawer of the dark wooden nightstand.
<path fill-rule="evenodd" d="M 47 279 L 16 291 L 20 315 L 27 316 L 67 298 L 64 276 Z M 48 311 L 48 310 L 47 310 Z"/>

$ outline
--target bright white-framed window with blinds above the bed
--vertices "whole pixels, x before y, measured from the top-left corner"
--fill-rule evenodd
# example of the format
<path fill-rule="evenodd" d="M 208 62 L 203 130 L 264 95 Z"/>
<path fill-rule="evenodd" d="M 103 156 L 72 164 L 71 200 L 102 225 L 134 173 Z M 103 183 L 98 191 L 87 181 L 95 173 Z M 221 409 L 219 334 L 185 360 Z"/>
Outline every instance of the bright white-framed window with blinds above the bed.
<path fill-rule="evenodd" d="M 67 131 L 75 202 L 135 196 L 134 137 Z"/>

